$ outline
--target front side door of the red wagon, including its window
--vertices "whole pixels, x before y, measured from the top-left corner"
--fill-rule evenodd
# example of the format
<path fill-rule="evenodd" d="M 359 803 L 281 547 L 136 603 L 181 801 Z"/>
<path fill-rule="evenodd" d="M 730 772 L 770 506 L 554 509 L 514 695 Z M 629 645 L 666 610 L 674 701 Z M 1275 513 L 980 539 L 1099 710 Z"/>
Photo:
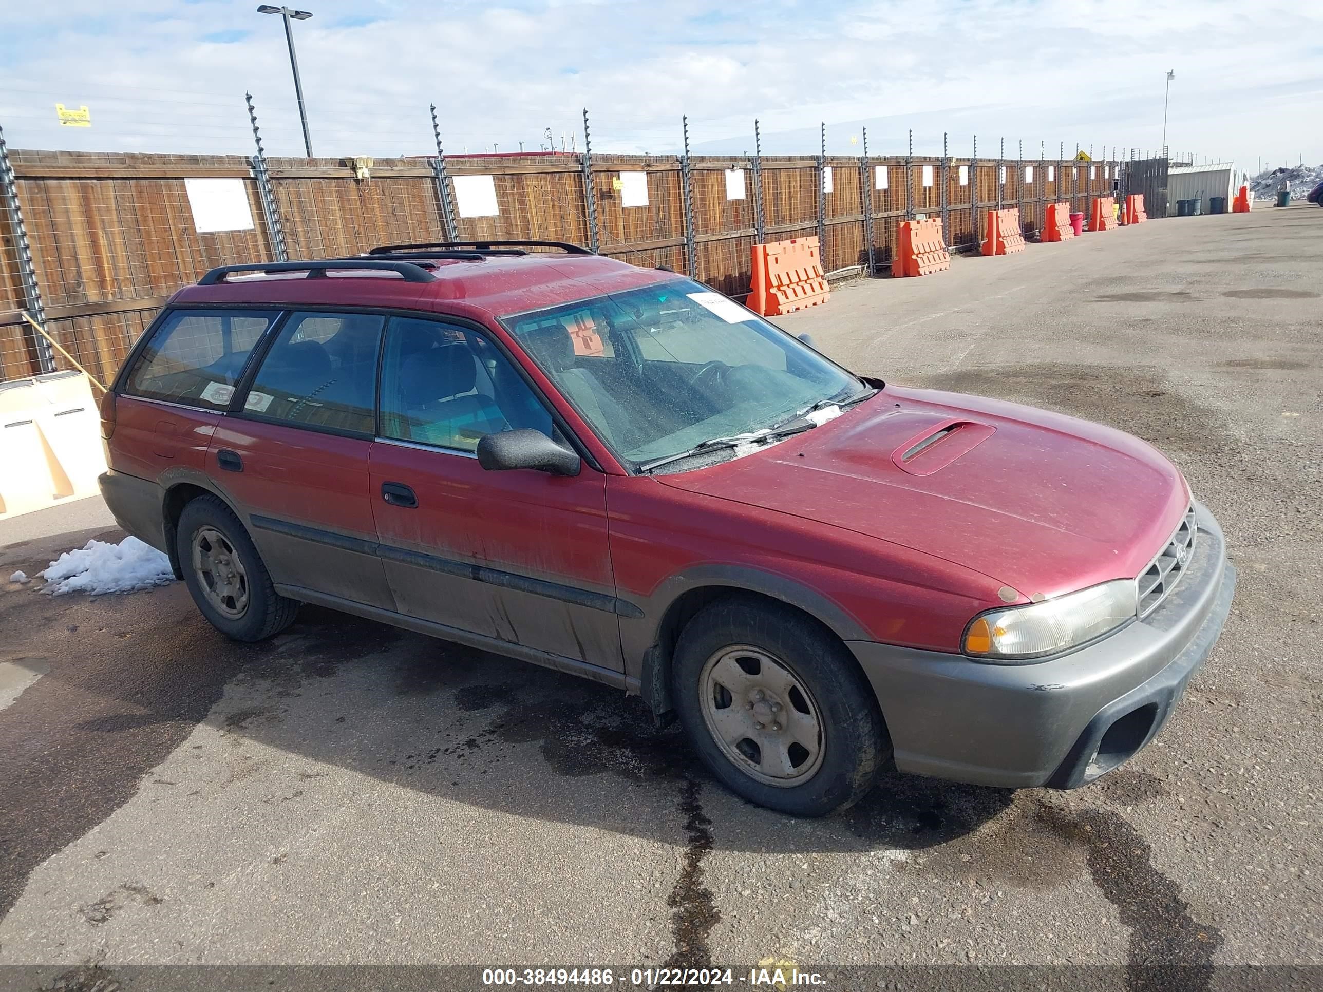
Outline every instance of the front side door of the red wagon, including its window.
<path fill-rule="evenodd" d="M 392 317 L 369 492 L 396 608 L 622 671 L 605 476 L 488 472 L 478 439 L 554 433 L 505 354 L 468 328 Z"/>

